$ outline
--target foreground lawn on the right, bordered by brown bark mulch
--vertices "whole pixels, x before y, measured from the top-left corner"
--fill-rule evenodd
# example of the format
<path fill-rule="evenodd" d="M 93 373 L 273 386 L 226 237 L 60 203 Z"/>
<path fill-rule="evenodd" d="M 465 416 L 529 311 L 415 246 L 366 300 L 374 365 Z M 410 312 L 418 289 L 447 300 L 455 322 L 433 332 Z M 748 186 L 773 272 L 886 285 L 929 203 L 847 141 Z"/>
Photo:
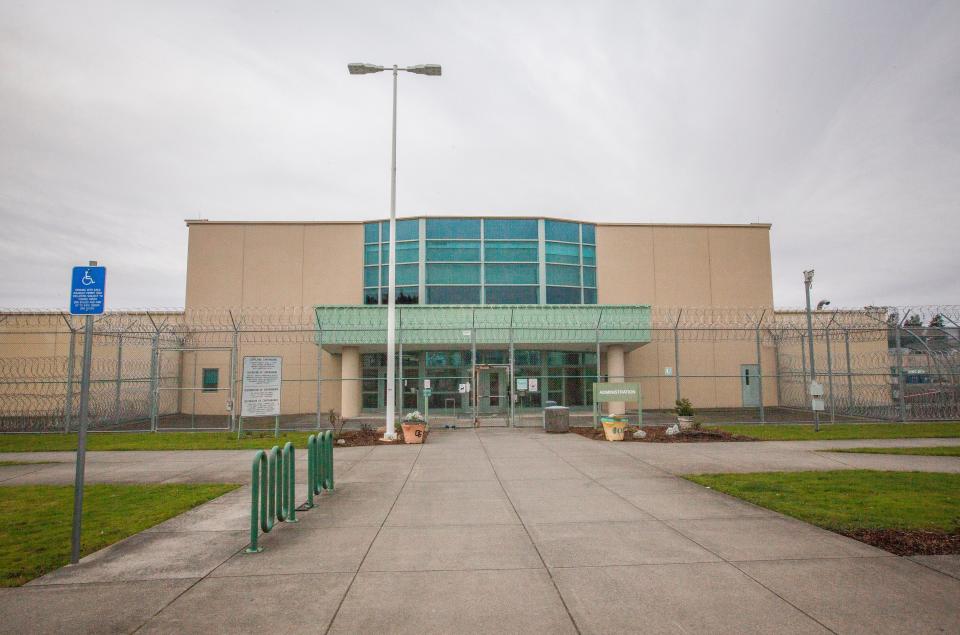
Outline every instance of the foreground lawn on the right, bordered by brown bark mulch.
<path fill-rule="evenodd" d="M 833 531 L 960 530 L 960 474 L 838 470 L 686 478 Z"/>

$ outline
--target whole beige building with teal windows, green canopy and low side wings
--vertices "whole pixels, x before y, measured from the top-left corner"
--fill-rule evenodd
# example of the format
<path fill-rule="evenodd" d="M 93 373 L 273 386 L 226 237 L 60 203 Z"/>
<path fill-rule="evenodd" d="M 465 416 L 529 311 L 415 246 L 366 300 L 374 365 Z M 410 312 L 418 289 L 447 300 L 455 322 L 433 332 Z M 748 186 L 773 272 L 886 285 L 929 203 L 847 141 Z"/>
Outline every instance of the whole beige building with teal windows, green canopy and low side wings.
<path fill-rule="evenodd" d="M 243 358 L 259 355 L 282 358 L 287 423 L 382 416 L 386 222 L 187 227 L 184 311 L 97 319 L 95 420 L 235 425 Z M 599 379 L 640 385 L 641 402 L 613 412 L 686 397 L 744 420 L 761 405 L 809 415 L 806 316 L 774 310 L 770 225 L 404 218 L 396 260 L 402 412 L 531 425 L 549 402 L 590 413 Z M 0 387 L 0 419 L 69 425 L 82 320 L 0 317 L 0 375 L 17 380 Z M 819 377 L 841 414 L 889 414 L 882 319 L 815 314 Z"/>

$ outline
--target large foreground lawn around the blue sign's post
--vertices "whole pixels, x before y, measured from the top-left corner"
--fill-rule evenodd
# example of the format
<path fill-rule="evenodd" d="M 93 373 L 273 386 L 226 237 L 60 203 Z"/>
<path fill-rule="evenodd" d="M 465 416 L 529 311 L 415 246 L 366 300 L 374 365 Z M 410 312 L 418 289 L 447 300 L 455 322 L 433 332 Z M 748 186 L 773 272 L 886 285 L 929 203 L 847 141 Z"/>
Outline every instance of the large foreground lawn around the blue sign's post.
<path fill-rule="evenodd" d="M 81 555 L 236 489 L 231 484 L 87 485 Z M 0 487 L 0 587 L 70 562 L 73 486 Z"/>

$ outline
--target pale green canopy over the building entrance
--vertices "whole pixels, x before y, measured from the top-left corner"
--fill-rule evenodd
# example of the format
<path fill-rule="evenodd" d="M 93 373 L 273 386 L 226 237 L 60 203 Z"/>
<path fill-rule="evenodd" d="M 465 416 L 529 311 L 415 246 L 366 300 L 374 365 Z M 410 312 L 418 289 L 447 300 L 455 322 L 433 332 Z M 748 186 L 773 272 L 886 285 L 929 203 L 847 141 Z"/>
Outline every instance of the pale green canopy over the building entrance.
<path fill-rule="evenodd" d="M 387 307 L 316 307 L 317 343 L 338 352 L 342 346 L 386 346 Z M 512 331 L 512 337 L 511 337 Z M 619 344 L 631 350 L 650 341 L 646 304 L 484 304 L 400 305 L 397 341 L 422 348 Z"/>

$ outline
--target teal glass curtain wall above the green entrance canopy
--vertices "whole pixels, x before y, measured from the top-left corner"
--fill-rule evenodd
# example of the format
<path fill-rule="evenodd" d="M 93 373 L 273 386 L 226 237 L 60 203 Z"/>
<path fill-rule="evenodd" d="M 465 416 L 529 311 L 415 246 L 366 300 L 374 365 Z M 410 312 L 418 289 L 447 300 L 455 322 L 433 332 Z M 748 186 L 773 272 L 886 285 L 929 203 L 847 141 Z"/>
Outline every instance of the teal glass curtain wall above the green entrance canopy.
<path fill-rule="evenodd" d="M 365 223 L 364 304 L 387 302 L 389 223 Z M 397 302 L 596 304 L 596 229 L 537 218 L 397 221 Z"/>

